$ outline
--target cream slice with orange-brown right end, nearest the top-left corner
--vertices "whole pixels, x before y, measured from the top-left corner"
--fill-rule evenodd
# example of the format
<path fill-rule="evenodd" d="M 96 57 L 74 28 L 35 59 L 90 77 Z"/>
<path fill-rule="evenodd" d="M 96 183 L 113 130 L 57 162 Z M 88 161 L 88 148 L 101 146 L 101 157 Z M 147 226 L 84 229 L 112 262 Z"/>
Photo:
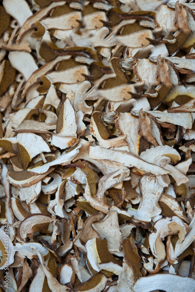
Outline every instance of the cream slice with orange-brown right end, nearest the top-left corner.
<path fill-rule="evenodd" d="M 47 17 L 41 20 L 41 24 L 46 29 L 74 29 L 79 26 L 82 19 L 80 11 L 67 13 L 56 17 Z"/>

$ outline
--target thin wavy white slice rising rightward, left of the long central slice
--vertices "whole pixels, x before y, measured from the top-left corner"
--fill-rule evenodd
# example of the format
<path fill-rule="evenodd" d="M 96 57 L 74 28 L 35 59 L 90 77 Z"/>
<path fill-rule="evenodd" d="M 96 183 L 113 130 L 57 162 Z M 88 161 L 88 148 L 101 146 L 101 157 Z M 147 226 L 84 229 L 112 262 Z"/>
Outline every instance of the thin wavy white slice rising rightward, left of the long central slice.
<path fill-rule="evenodd" d="M 56 158 L 54 161 L 48 162 L 42 166 L 34 167 L 34 168 L 28 168 L 27 171 L 30 171 L 35 174 L 42 174 L 48 171 L 48 169 L 53 165 L 67 165 L 70 164 L 73 158 L 78 154 L 79 149 L 82 145 L 78 145 L 75 149 L 72 151 L 66 153 L 63 152 L 58 158 Z"/>

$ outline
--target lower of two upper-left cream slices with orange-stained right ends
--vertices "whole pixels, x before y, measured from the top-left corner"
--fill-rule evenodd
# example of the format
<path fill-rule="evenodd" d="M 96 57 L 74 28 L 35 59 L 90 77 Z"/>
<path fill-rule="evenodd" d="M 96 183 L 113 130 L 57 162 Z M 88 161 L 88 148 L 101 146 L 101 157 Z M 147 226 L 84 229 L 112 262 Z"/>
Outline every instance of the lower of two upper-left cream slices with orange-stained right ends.
<path fill-rule="evenodd" d="M 53 71 L 46 74 L 48 80 L 53 83 L 79 83 L 84 81 L 84 75 L 90 75 L 87 66 L 78 66 L 62 71 Z"/>

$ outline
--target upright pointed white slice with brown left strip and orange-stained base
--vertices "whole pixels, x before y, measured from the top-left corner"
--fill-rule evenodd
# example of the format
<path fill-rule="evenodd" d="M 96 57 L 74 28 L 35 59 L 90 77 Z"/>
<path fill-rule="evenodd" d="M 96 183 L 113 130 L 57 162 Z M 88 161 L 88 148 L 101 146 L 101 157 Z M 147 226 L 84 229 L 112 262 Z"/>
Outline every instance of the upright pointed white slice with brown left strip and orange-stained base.
<path fill-rule="evenodd" d="M 74 111 L 70 100 L 62 103 L 56 124 L 56 135 L 52 137 L 54 146 L 65 149 L 74 146 L 77 142 L 77 114 Z"/>

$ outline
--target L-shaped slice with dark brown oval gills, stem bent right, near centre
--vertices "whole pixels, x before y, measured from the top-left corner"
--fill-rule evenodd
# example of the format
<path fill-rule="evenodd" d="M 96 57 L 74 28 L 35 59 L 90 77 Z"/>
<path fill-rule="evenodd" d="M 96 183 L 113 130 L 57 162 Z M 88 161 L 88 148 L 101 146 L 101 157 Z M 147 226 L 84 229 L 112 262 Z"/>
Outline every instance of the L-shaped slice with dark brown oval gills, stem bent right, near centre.
<path fill-rule="evenodd" d="M 110 137 L 110 132 L 101 120 L 101 112 L 94 111 L 92 113 L 89 129 L 90 133 L 97 138 L 102 147 L 110 148 L 119 145 L 127 145 L 125 141 L 126 136 L 108 139 Z"/>

